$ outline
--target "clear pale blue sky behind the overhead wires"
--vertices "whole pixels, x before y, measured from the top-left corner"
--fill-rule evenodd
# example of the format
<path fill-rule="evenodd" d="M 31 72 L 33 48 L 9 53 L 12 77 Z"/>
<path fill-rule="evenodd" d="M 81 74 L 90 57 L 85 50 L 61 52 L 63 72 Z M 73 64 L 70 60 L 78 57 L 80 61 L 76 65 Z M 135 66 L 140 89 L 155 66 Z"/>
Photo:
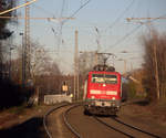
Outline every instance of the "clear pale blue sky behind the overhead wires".
<path fill-rule="evenodd" d="M 31 17 L 70 17 L 81 4 L 87 0 L 38 0 L 31 6 Z M 24 0 L 20 0 L 20 4 Z M 62 3 L 64 2 L 64 10 Z M 19 9 L 18 13 L 24 15 L 24 9 Z M 63 11 L 63 12 L 62 12 Z M 62 13 L 61 13 L 62 12 Z M 91 0 L 75 15 L 74 20 L 69 20 L 63 25 L 62 40 L 60 51 L 70 51 L 65 54 L 56 55 L 63 68 L 71 72 L 73 68 L 73 50 L 74 50 L 74 31 L 79 31 L 79 49 L 80 51 L 94 51 L 97 47 L 96 39 L 100 40 L 101 52 L 112 52 L 118 59 L 127 60 L 127 70 L 131 63 L 133 67 L 142 64 L 143 47 L 139 36 L 147 33 L 146 26 L 141 26 L 134 33 L 131 33 L 139 24 L 136 22 L 128 23 L 126 18 L 157 18 L 166 15 L 166 0 Z M 117 20 L 118 19 L 118 20 Z M 166 31 L 166 20 L 157 20 L 153 22 L 160 32 Z M 31 20 L 31 38 L 38 40 L 41 44 L 51 51 L 58 50 L 58 39 L 55 39 L 52 28 L 59 33 L 60 23 L 46 20 Z M 98 35 L 95 31 L 98 29 Z M 23 21 L 19 21 L 18 26 L 13 26 L 15 31 L 17 43 L 20 43 L 18 35 L 23 31 Z M 125 40 L 124 36 L 128 35 Z M 120 43 L 121 42 L 121 43 Z M 122 54 L 122 51 L 127 54 Z M 132 60 L 133 59 L 133 60 Z M 117 71 L 123 72 L 123 62 L 116 62 Z M 65 71 L 65 70 L 64 70 Z"/>

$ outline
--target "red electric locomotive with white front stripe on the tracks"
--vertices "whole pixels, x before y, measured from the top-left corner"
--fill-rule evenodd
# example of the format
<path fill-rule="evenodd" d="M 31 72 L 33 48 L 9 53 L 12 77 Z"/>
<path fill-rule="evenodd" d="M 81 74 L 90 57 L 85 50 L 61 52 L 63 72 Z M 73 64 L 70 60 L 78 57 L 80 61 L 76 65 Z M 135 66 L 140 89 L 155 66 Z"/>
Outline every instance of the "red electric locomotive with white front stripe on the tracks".
<path fill-rule="evenodd" d="M 121 107 L 121 99 L 120 73 L 112 70 L 89 72 L 84 85 L 85 114 L 116 115 Z"/>

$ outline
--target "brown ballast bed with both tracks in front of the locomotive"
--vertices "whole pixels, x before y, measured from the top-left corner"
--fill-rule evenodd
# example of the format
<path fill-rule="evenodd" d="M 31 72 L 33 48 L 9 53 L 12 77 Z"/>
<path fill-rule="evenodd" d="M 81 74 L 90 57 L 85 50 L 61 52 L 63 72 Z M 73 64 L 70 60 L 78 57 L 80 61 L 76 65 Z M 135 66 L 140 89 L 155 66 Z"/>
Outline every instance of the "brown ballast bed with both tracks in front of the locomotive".
<path fill-rule="evenodd" d="M 45 114 L 43 124 L 49 138 L 59 138 L 59 134 L 53 134 L 58 127 L 62 130 L 61 138 L 162 138 L 129 124 L 125 124 L 120 118 L 85 116 L 83 115 L 83 107 L 80 105 L 81 104 L 63 104 L 52 108 Z M 52 114 L 54 114 L 54 116 L 50 118 Z M 59 118 L 55 118 L 58 115 Z M 51 123 L 55 120 L 60 121 L 61 119 L 61 125 L 53 126 L 51 130 L 48 118 L 50 118 Z M 63 128 L 61 126 L 63 126 Z"/>

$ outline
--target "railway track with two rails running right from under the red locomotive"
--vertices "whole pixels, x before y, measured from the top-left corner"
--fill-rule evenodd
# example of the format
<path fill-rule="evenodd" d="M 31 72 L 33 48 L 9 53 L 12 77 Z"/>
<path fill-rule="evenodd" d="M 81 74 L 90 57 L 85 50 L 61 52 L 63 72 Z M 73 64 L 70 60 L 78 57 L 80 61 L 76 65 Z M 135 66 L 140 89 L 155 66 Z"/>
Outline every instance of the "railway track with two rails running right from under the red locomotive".
<path fill-rule="evenodd" d="M 94 118 L 103 124 L 104 126 L 106 126 L 107 128 L 114 130 L 114 131 L 117 131 L 122 135 L 124 135 L 125 137 L 128 137 L 128 138 L 160 138 L 159 136 L 157 135 L 154 135 L 154 134 L 151 134 L 151 132 L 147 132 L 145 130 L 142 130 L 141 128 L 137 128 L 135 126 L 132 126 L 132 125 L 128 125 L 128 124 L 125 124 L 123 123 L 122 120 L 115 118 L 115 117 L 111 117 L 111 120 L 115 121 L 116 124 L 118 125 L 113 125 L 113 123 L 110 123 L 110 121 L 106 121 L 106 120 L 103 120 L 102 118 L 98 118 L 96 116 L 94 116 Z M 118 127 L 117 127 L 118 126 Z M 121 126 L 121 127 L 120 127 Z M 122 127 L 123 126 L 123 127 Z M 126 130 L 126 129 L 131 129 L 131 130 Z M 128 132 L 128 131 L 136 131 L 136 132 Z"/>

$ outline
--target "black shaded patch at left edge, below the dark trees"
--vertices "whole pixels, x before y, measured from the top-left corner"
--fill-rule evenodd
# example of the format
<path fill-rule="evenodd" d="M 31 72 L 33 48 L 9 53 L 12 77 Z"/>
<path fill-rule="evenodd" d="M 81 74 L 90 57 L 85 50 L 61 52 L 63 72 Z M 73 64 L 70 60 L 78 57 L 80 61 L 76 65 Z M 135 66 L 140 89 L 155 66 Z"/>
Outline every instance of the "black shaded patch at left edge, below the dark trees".
<path fill-rule="evenodd" d="M 21 86 L 10 79 L 0 78 L 0 110 L 27 103 L 34 94 L 32 86 Z"/>

